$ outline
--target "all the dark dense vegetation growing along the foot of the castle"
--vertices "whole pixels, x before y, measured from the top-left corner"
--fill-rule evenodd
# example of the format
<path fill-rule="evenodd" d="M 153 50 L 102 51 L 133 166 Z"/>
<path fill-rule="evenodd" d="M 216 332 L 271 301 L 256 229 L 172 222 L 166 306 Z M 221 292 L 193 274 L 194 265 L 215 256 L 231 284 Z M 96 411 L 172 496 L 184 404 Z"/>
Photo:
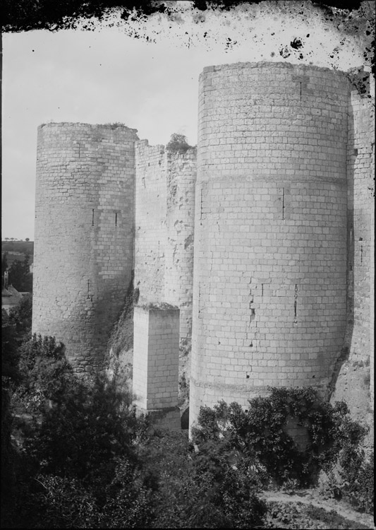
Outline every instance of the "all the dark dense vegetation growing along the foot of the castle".
<path fill-rule="evenodd" d="M 191 441 L 150 430 L 130 394 L 77 377 L 54 338 L 30 338 L 30 317 L 23 302 L 3 323 L 2 526 L 262 527 L 262 488 L 310 485 L 334 465 L 330 487 L 371 510 L 365 430 L 344 404 L 271 389 L 248 411 L 202 408 Z M 286 432 L 291 416 L 308 432 L 305 450 Z"/>

